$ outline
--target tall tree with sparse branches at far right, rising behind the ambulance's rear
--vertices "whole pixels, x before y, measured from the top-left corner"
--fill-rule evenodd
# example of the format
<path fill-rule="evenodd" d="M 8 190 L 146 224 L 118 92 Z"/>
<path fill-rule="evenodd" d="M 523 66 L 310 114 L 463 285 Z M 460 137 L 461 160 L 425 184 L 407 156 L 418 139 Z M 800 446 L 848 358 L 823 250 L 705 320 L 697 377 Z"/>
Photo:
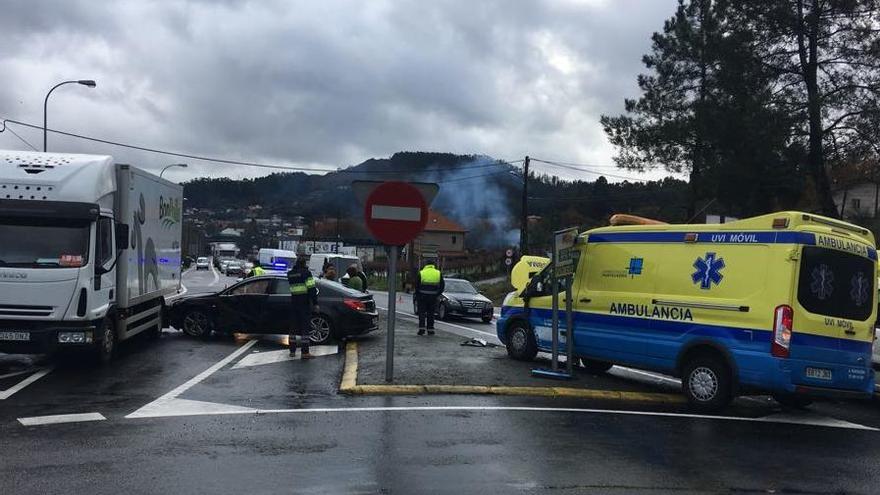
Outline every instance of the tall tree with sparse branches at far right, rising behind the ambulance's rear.
<path fill-rule="evenodd" d="M 821 211 L 838 216 L 828 168 L 871 152 L 880 114 L 878 0 L 733 0 L 775 76 L 774 105 L 797 118 Z M 876 151 L 874 151 L 876 153 Z"/>

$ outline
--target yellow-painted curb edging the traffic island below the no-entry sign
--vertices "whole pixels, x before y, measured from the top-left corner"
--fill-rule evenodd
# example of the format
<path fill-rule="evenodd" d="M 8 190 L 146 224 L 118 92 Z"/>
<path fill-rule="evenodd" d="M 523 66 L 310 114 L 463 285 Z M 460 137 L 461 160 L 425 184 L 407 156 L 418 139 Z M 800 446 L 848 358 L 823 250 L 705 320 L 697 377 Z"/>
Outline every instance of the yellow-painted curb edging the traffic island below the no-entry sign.
<path fill-rule="evenodd" d="M 517 397 L 560 397 L 594 400 L 682 404 L 677 394 L 595 390 L 572 387 L 510 387 L 504 385 L 358 385 L 357 342 L 345 345 L 345 366 L 339 393 L 346 395 L 505 395 Z"/>

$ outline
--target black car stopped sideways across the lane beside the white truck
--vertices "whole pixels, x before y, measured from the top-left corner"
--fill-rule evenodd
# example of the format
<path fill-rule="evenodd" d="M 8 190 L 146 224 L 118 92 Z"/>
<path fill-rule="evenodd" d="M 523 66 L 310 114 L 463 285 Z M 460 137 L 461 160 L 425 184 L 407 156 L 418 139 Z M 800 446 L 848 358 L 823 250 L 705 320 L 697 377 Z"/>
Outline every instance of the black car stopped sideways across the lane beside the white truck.
<path fill-rule="evenodd" d="M 319 312 L 312 315 L 311 341 L 361 335 L 376 329 L 373 296 L 338 282 L 317 280 Z M 217 293 L 195 295 L 171 306 L 170 323 L 193 337 L 218 333 L 286 334 L 290 330 L 290 285 L 283 275 L 245 279 Z"/>

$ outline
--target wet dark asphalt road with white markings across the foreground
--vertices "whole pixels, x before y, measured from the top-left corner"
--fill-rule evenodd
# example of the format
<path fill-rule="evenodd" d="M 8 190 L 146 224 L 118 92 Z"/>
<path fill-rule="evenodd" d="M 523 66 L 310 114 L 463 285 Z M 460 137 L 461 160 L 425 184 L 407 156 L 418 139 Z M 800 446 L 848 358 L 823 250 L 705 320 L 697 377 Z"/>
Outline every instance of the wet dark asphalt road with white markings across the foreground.
<path fill-rule="evenodd" d="M 234 280 L 202 271 L 184 283 L 191 295 Z M 438 329 L 493 335 L 464 320 Z M 280 340 L 166 329 L 103 368 L 4 356 L 0 390 L 14 392 L 0 395 L 0 493 L 869 494 L 880 484 L 876 403 L 751 417 L 591 399 L 344 396 L 335 347 L 291 361 Z"/>

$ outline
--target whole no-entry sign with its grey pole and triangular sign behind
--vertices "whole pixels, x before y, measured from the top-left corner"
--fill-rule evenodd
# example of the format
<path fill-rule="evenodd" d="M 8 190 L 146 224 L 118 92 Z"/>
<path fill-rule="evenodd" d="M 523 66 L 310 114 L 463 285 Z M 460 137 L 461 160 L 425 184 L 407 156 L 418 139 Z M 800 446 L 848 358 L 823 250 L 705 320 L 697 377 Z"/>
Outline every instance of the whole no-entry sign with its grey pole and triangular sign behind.
<path fill-rule="evenodd" d="M 385 348 L 385 381 L 394 380 L 394 327 L 397 315 L 397 257 L 400 246 L 416 238 L 428 222 L 428 205 L 437 195 L 437 184 L 357 181 L 352 189 L 363 198 L 367 229 L 388 249 L 388 335 Z"/>

